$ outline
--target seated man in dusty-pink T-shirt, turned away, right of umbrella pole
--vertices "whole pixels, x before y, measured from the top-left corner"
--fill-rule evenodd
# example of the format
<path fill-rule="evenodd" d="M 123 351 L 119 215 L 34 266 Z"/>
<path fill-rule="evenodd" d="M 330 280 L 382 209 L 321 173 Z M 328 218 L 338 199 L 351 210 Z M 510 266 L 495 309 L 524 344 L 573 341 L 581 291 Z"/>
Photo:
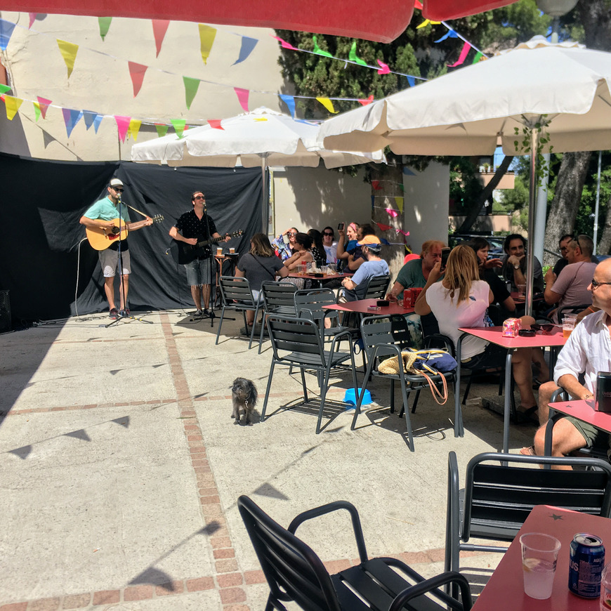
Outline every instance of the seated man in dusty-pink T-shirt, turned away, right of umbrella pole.
<path fill-rule="evenodd" d="M 592 303 L 592 294 L 588 290 L 596 263 L 591 262 L 594 244 L 587 235 L 578 235 L 570 240 L 567 250 L 567 265 L 556 277 L 553 270 L 545 275 L 545 301 L 548 306 L 580 306 Z M 558 310 L 556 310 L 557 312 Z M 556 312 L 554 322 L 558 321 Z"/>

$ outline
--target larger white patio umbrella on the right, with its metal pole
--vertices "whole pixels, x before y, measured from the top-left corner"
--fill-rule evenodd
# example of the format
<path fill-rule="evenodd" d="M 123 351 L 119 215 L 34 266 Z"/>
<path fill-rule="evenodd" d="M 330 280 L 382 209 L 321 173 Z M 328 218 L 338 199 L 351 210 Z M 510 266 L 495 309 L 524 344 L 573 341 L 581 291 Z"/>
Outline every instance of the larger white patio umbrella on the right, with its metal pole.
<path fill-rule="evenodd" d="M 507 155 L 611 148 L 611 53 L 535 37 L 490 60 L 455 70 L 325 121 L 321 143 L 342 150 L 390 145 L 399 155 Z M 531 128 L 523 147 L 523 128 Z M 518 136 L 515 134 L 518 128 Z M 516 148 L 517 142 L 517 148 Z M 534 229 L 532 155 L 528 234 Z M 527 312 L 532 311 L 532 240 Z"/>

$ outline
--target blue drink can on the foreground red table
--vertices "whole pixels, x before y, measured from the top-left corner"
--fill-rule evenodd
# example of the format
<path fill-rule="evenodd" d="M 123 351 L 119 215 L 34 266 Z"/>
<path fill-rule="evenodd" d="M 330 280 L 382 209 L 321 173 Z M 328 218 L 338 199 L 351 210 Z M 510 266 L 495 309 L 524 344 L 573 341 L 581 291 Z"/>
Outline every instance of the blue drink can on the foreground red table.
<path fill-rule="evenodd" d="M 595 534 L 578 532 L 571 541 L 569 589 L 582 598 L 600 596 L 600 576 L 605 567 L 603 539 Z"/>

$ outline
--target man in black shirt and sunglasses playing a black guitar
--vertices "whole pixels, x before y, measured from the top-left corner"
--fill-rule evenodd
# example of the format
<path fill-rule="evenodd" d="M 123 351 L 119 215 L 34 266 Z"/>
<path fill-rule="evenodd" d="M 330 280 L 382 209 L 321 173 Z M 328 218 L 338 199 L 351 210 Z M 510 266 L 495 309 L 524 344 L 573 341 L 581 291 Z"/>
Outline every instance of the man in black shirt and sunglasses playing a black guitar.
<path fill-rule="evenodd" d="M 216 225 L 209 214 L 206 214 L 206 198 L 203 191 L 194 191 L 191 195 L 193 209 L 185 212 L 176 225 L 170 229 L 170 236 L 178 242 L 195 246 L 199 240 L 216 238 L 216 241 L 229 242 L 230 236 L 223 236 L 216 231 Z M 187 282 L 191 287 L 191 296 L 195 301 L 195 318 L 209 317 L 210 283 L 212 277 L 212 257 L 209 246 L 198 251 L 198 256 L 185 264 Z M 204 308 L 202 310 L 202 299 Z"/>

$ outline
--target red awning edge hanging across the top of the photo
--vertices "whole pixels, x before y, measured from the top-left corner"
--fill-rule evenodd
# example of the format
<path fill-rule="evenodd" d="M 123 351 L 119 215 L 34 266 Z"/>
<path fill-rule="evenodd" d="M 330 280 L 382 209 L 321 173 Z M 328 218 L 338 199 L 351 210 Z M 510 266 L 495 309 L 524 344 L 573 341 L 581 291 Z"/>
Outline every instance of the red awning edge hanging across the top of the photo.
<path fill-rule="evenodd" d="M 513 1 L 426 0 L 423 15 L 440 21 L 473 15 Z M 414 12 L 414 0 L 3 0 L 2 10 L 296 29 L 390 42 L 407 28 Z"/>

